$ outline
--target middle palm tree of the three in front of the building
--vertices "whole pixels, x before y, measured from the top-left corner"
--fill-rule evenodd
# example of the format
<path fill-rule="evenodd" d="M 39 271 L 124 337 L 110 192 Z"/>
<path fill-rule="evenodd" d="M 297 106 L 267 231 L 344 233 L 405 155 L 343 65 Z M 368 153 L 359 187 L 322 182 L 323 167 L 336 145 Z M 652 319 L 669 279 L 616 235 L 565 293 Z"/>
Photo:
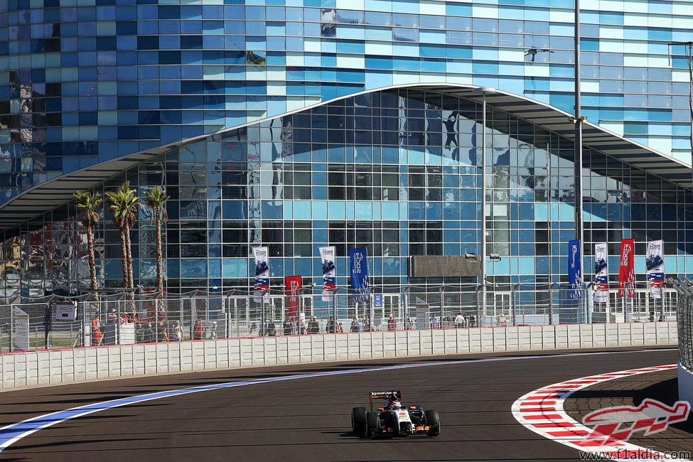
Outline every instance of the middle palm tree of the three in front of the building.
<path fill-rule="evenodd" d="M 130 230 L 137 220 L 135 210 L 139 206 L 139 197 L 135 193 L 136 190 L 130 189 L 129 181 L 117 190 L 106 193 L 109 210 L 113 213 L 113 223 L 120 231 L 124 289 L 134 289 Z M 131 294 L 130 298 L 134 299 L 134 294 Z"/>

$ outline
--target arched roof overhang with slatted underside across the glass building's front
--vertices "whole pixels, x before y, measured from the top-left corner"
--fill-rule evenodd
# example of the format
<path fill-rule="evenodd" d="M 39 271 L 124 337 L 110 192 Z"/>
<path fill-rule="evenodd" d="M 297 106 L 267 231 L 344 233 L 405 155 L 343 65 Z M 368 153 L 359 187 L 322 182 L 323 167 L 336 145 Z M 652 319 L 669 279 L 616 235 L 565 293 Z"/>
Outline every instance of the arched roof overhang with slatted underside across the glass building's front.
<path fill-rule="evenodd" d="M 348 97 L 360 95 L 362 93 L 377 92 L 382 90 L 392 90 L 404 87 L 416 87 L 421 90 L 429 90 L 439 92 L 444 95 L 462 97 L 469 100 L 480 101 L 483 94 L 474 92 L 476 85 L 455 85 L 448 83 L 441 84 L 407 84 L 407 85 L 392 85 L 390 87 L 382 87 L 365 92 L 355 93 L 346 97 L 335 98 L 335 100 L 343 100 Z M 331 100 L 331 101 L 335 101 Z M 329 101 L 328 101 L 329 102 Z M 495 107 L 505 112 L 509 112 L 515 117 L 525 119 L 527 122 L 535 124 L 543 129 L 553 131 L 554 133 L 565 136 L 567 139 L 574 139 L 575 126 L 571 124 L 568 117 L 571 115 L 560 109 L 550 107 L 542 102 L 530 100 L 529 98 L 513 95 L 503 92 L 502 90 L 493 90 L 486 93 L 486 102 L 490 107 Z M 287 112 L 268 119 L 276 119 L 287 114 L 301 112 L 311 107 L 320 106 L 327 102 L 313 104 L 312 106 L 296 109 L 295 111 Z M 23 193 L 11 198 L 6 203 L 0 206 L 0 230 L 6 230 L 19 223 L 31 220 L 31 218 L 41 215 L 48 210 L 64 205 L 72 200 L 72 194 L 77 190 L 85 190 L 96 186 L 98 183 L 116 176 L 118 173 L 136 166 L 139 163 L 153 159 L 156 156 L 163 154 L 169 149 L 174 149 L 177 146 L 188 144 L 190 141 L 205 138 L 206 136 L 215 133 L 221 133 L 239 127 L 247 127 L 257 124 L 262 121 L 249 122 L 237 127 L 223 129 L 214 133 L 208 133 L 195 138 L 178 141 L 174 144 L 159 146 L 156 149 L 138 152 L 129 156 L 120 157 L 111 161 L 97 163 L 94 166 L 82 168 L 79 171 L 71 172 L 34 186 Z M 600 151 L 614 159 L 629 163 L 644 171 L 648 171 L 654 175 L 665 178 L 672 183 L 675 183 L 684 188 L 693 188 L 693 179 L 691 166 L 677 161 L 669 156 L 664 156 L 657 151 L 654 151 L 647 146 L 635 143 L 623 138 L 618 134 L 603 129 L 596 124 L 587 122 L 583 126 L 583 146 L 589 149 Z"/>

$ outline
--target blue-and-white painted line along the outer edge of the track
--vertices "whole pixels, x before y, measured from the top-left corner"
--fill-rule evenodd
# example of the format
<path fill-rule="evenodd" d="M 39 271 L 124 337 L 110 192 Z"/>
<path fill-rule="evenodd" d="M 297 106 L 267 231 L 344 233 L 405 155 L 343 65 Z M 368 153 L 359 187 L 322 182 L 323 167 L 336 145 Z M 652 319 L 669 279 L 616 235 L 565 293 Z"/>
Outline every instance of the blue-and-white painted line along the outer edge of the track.
<path fill-rule="evenodd" d="M 93 412 L 103 411 L 105 409 L 113 409 L 114 407 L 127 406 L 128 404 L 135 404 L 139 402 L 151 401 L 152 399 L 160 399 L 166 397 L 175 397 L 180 394 L 205 392 L 208 390 L 220 390 L 222 388 L 230 387 L 241 387 L 243 385 L 257 385 L 264 382 L 279 382 L 280 380 L 296 380 L 305 379 L 308 377 L 323 377 L 328 375 L 342 375 L 342 374 L 356 374 L 359 372 L 375 372 L 378 370 L 392 370 L 392 369 L 406 369 L 410 367 L 431 367 L 440 365 L 457 365 L 457 364 L 467 364 L 471 362 L 493 362 L 493 361 L 511 361 L 511 360 L 527 360 L 536 358 L 562 358 L 568 356 L 586 356 L 586 355 L 611 355 L 615 353 L 644 353 L 648 351 L 671 351 L 677 350 L 677 348 L 662 348 L 658 350 L 632 350 L 632 351 L 605 351 L 605 352 L 593 352 L 593 353 L 564 353 L 561 355 L 530 355 L 530 356 L 517 356 L 517 357 L 504 357 L 504 358 L 480 358 L 475 360 L 459 360 L 459 361 L 446 361 L 446 362 L 424 362 L 421 364 L 400 364 L 392 366 L 381 366 L 381 367 L 365 367 L 363 369 L 352 369 L 352 370 L 330 370 L 326 372 L 314 372 L 311 374 L 299 374 L 299 375 L 289 375 L 281 377 L 265 377 L 262 379 L 254 380 L 244 380 L 242 382 L 226 382 L 213 385 L 203 385 L 202 387 L 190 387 L 183 388 L 181 390 L 167 390 L 165 392 L 155 392 L 149 394 L 139 394 L 134 397 L 113 399 L 112 401 L 98 402 L 94 404 L 85 404 L 84 406 L 72 407 L 71 409 L 66 409 L 65 411 L 52 412 L 50 414 L 43 414 L 38 417 L 32 417 L 31 419 L 26 419 L 16 424 L 10 424 L 4 426 L 0 429 L 0 452 L 3 451 L 7 446 L 10 446 L 14 442 L 22 439 L 24 436 L 32 434 L 38 430 L 45 429 L 48 426 L 59 424 L 60 422 L 76 419 L 77 417 L 82 417 L 87 414 L 92 414 Z M 300 364 L 298 364 L 300 366 Z"/>

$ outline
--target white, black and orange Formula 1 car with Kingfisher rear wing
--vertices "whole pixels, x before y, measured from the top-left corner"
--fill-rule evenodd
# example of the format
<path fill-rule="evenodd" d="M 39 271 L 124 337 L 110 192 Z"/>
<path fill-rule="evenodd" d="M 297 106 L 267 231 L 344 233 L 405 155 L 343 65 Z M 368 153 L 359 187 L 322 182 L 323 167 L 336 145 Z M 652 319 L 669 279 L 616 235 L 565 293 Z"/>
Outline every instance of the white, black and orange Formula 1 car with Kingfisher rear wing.
<path fill-rule="evenodd" d="M 373 399 L 385 399 L 385 404 L 373 410 Z M 426 434 L 438 436 L 441 423 L 438 412 L 421 406 L 402 405 L 402 392 L 370 393 L 370 412 L 365 407 L 355 407 L 351 412 L 351 426 L 355 434 L 365 438 L 380 436 L 406 436 Z"/>

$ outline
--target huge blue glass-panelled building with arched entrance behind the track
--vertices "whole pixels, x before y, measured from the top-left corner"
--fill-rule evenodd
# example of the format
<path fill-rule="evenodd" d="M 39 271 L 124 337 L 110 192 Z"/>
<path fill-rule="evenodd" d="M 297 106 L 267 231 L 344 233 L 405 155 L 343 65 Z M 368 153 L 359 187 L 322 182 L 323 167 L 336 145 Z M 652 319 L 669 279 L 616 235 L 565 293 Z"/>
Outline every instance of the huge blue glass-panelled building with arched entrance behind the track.
<path fill-rule="evenodd" d="M 568 0 L 4 1 L 0 290 L 87 287 L 72 193 L 125 180 L 171 195 L 168 291 L 247 290 L 258 245 L 277 288 L 321 284 L 324 245 L 338 285 L 366 247 L 385 290 L 474 287 L 414 277 L 411 257 L 480 254 L 482 220 L 491 283 L 566 281 L 573 18 Z M 643 284 L 648 240 L 664 240 L 668 274 L 693 274 L 689 76 L 669 46 L 692 31 L 691 1 L 583 4 L 584 268 L 608 242 L 612 280 L 623 238 Z M 485 120 L 476 87 L 495 89 Z M 148 214 L 132 233 L 145 287 Z M 111 219 L 97 267 L 116 287 Z"/>

